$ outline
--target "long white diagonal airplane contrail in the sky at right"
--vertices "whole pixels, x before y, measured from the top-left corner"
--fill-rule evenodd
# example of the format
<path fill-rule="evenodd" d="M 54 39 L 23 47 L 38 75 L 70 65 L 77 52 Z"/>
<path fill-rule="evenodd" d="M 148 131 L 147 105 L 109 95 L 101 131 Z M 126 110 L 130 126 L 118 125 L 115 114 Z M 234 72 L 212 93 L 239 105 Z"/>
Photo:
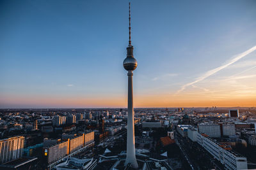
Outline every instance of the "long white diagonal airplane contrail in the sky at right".
<path fill-rule="evenodd" d="M 237 62 L 237 60 L 242 59 L 243 57 L 245 57 L 246 55 L 248 55 L 249 53 L 252 53 L 256 50 L 256 46 L 253 46 L 252 48 L 250 48 L 249 50 L 243 52 L 243 53 L 239 53 L 238 55 L 235 55 L 234 59 L 230 60 L 227 64 L 224 64 L 220 67 L 216 67 L 215 69 L 211 69 L 209 71 L 207 71 L 204 75 L 196 78 L 195 81 L 191 82 L 191 83 L 186 83 L 185 85 L 182 85 L 182 87 L 180 88 L 180 90 L 178 90 L 176 92 L 176 94 L 179 94 L 179 92 L 182 92 L 183 90 L 186 89 L 186 87 L 188 87 L 189 85 L 193 85 L 195 83 L 198 83 L 199 81 L 204 80 L 205 78 L 211 76 L 212 74 L 217 73 L 218 71 L 221 71 L 221 69 L 224 69 L 225 67 L 230 66 L 231 64 L 233 64 L 234 62 Z"/>

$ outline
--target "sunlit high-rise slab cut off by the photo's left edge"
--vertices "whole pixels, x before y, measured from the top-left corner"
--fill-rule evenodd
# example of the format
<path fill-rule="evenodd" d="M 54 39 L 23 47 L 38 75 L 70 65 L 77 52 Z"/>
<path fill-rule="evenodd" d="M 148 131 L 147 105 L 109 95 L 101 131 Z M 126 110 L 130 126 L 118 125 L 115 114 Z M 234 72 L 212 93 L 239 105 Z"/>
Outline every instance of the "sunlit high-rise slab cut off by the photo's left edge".
<path fill-rule="evenodd" d="M 0 164 L 22 157 L 23 148 L 23 136 L 0 140 Z"/>

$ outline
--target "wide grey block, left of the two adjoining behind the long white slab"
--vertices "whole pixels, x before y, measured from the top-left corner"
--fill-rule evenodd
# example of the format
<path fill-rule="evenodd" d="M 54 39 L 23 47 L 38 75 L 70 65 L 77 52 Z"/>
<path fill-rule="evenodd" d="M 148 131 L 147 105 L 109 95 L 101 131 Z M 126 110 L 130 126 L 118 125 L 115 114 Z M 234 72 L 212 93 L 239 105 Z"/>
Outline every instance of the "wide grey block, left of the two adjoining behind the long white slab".
<path fill-rule="evenodd" d="M 210 138 L 220 138 L 221 131 L 218 124 L 199 124 L 198 130 L 200 133 L 207 134 Z"/>

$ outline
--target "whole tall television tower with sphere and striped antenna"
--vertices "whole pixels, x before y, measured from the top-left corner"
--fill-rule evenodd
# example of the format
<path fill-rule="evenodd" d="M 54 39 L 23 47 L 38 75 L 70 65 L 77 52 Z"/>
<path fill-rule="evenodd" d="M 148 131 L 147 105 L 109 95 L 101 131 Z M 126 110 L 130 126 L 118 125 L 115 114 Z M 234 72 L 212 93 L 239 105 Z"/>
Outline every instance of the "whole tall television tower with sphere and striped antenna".
<path fill-rule="evenodd" d="M 137 67 L 137 60 L 133 57 L 133 46 L 131 44 L 131 3 L 129 3 L 129 45 L 127 46 L 127 57 L 123 62 L 124 68 L 128 71 L 128 115 L 127 115 L 127 152 L 125 166 L 138 168 L 135 156 L 134 139 L 134 111 L 133 111 L 133 92 L 132 92 L 132 71 Z"/>

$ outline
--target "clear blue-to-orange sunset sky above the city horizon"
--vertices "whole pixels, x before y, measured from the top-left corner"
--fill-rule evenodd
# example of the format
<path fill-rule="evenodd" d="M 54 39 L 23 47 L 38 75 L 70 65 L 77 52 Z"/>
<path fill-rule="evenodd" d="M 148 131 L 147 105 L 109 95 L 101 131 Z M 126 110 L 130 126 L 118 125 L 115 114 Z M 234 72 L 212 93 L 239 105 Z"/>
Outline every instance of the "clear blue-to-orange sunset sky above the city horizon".
<path fill-rule="evenodd" d="M 125 107 L 128 2 L 0 1 L 0 107 Z M 135 106 L 256 103 L 254 50 L 179 91 L 256 45 L 256 1 L 131 7 Z"/>

